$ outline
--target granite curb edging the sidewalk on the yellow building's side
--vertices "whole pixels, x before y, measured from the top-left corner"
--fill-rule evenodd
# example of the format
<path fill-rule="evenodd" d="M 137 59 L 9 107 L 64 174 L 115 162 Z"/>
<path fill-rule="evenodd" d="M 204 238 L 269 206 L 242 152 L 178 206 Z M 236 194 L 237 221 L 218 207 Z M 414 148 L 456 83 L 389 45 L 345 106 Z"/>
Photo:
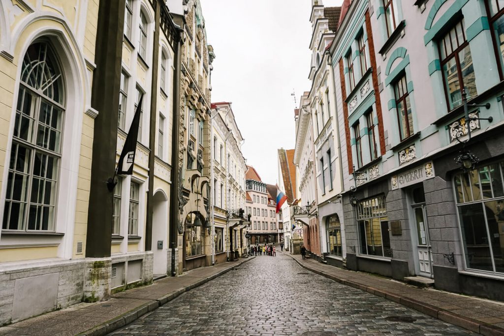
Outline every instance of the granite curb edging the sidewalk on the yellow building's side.
<path fill-rule="evenodd" d="M 182 293 L 185 293 L 187 291 L 190 291 L 196 287 L 199 287 L 203 284 L 206 284 L 207 282 L 222 276 L 223 274 L 234 270 L 236 267 L 241 266 L 243 263 L 250 261 L 251 259 L 254 259 L 254 256 L 242 259 L 239 261 L 239 263 L 234 264 L 230 267 L 224 268 L 223 270 L 217 272 L 216 274 L 213 274 L 207 278 L 204 278 L 203 280 L 199 280 L 191 285 L 188 285 L 186 287 L 183 287 L 181 289 L 175 290 L 171 293 L 168 293 L 166 295 L 161 296 L 160 298 L 156 299 L 155 301 L 151 303 L 146 303 L 143 304 L 135 309 L 132 309 L 128 311 L 127 313 L 124 313 L 122 315 L 119 315 L 111 320 L 108 320 L 104 323 L 101 323 L 91 329 L 88 329 L 84 332 L 79 333 L 79 336 L 102 336 L 106 335 L 107 333 L 110 333 L 112 331 L 115 331 L 119 328 L 122 328 L 123 326 L 132 323 L 136 319 L 142 317 L 143 315 L 156 310 L 157 308 L 161 307 L 162 305 L 166 304 L 167 302 L 175 299 L 177 296 L 179 296 Z"/>

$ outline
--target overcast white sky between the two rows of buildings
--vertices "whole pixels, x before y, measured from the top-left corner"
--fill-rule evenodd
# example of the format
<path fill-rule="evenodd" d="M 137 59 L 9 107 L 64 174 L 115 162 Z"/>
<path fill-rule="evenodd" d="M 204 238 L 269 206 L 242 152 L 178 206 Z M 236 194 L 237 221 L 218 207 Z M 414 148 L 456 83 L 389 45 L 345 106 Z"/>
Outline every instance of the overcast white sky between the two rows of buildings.
<path fill-rule="evenodd" d="M 341 6 L 342 0 L 324 0 Z M 212 102 L 232 102 L 247 165 L 278 179 L 277 149 L 295 144 L 294 97 L 310 89 L 311 0 L 201 0 L 216 58 Z"/>

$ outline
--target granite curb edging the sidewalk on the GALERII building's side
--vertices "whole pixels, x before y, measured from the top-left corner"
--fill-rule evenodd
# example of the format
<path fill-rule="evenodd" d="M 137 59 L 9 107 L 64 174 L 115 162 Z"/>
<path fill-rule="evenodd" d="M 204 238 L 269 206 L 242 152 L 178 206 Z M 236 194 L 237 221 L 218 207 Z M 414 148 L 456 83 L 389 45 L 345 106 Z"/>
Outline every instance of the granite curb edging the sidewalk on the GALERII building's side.
<path fill-rule="evenodd" d="M 442 321 L 452 323 L 454 325 L 463 327 L 465 329 L 478 332 L 484 336 L 504 336 L 504 328 L 492 325 L 490 323 L 482 323 L 480 321 L 474 320 L 472 318 L 462 316 L 459 314 L 456 314 L 454 312 L 451 312 L 449 310 L 436 307 L 434 305 L 421 302 L 412 298 L 408 298 L 405 296 L 402 296 L 397 293 L 392 293 L 387 291 L 387 289 L 377 289 L 373 288 L 370 286 L 365 286 L 362 284 L 359 284 L 357 282 L 354 282 L 349 279 L 343 279 L 340 278 L 334 274 L 329 274 L 326 272 L 323 272 L 321 270 L 317 270 L 316 268 L 311 268 L 308 265 L 302 263 L 300 260 L 298 260 L 296 257 L 289 255 L 294 261 L 296 261 L 299 266 L 303 267 L 305 270 L 308 270 L 310 272 L 316 273 L 318 275 L 321 275 L 323 277 L 329 278 L 331 280 L 334 280 L 340 284 L 347 285 L 356 289 L 360 289 L 362 291 L 383 297 L 385 299 L 397 302 L 399 304 L 402 304 L 408 308 L 415 309 L 425 315 L 435 317 L 437 319 L 440 319 Z M 320 264 L 320 266 L 324 266 L 323 264 Z M 334 266 L 327 266 L 327 267 L 334 267 Z"/>

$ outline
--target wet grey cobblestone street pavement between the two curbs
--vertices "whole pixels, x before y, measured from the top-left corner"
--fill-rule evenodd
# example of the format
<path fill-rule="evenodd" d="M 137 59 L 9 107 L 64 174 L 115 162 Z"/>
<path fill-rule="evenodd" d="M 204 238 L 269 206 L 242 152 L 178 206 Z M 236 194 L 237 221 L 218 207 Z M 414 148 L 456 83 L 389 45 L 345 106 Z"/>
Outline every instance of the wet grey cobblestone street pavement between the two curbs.
<path fill-rule="evenodd" d="M 463 328 L 258 256 L 113 335 L 467 335 Z"/>

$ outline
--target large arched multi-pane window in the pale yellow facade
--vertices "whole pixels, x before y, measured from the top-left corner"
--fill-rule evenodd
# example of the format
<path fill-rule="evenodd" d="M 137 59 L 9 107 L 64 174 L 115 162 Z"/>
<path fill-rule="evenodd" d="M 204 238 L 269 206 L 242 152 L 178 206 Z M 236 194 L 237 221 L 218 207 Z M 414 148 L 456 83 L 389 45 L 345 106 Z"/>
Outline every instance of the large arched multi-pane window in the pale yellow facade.
<path fill-rule="evenodd" d="M 11 147 L 5 230 L 54 230 L 65 89 L 45 41 L 23 59 Z"/>

